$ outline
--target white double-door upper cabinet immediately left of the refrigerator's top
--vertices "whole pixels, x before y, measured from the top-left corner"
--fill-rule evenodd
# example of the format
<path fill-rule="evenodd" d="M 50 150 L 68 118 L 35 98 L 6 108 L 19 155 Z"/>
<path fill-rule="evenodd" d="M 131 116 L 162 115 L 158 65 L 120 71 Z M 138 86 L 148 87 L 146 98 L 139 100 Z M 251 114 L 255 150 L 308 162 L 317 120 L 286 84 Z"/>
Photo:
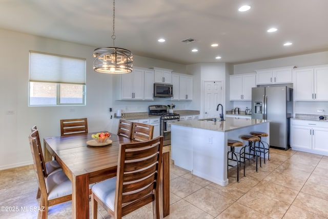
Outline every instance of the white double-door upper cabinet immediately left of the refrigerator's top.
<path fill-rule="evenodd" d="M 256 74 L 230 75 L 230 101 L 252 101 L 252 87 L 256 87 Z"/>

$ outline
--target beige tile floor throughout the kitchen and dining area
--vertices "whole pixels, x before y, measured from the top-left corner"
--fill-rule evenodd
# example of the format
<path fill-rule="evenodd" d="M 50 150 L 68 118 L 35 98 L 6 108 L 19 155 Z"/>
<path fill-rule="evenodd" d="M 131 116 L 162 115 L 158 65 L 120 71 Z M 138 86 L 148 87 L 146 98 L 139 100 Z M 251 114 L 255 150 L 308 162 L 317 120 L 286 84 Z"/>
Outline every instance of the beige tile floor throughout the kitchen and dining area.
<path fill-rule="evenodd" d="M 170 147 L 170 146 L 166 146 Z M 246 176 L 219 186 L 171 164 L 170 215 L 166 218 L 328 218 L 328 156 L 271 149 L 271 160 L 255 172 L 247 162 Z M 36 218 L 37 212 L 20 207 L 38 206 L 33 167 L 0 171 L 0 218 Z M 71 218 L 71 202 L 49 208 L 49 218 Z M 111 218 L 99 207 L 98 218 Z M 152 218 L 152 205 L 124 218 Z"/>

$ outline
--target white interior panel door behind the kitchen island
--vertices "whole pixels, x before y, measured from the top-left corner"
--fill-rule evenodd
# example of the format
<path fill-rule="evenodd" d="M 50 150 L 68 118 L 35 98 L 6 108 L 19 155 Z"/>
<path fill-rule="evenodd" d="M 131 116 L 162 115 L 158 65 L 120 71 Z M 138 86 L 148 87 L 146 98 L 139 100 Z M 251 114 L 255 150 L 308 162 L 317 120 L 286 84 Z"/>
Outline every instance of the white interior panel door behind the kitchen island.
<path fill-rule="evenodd" d="M 204 115 L 203 118 L 219 118 L 221 109 L 216 111 L 222 101 L 222 82 L 204 82 Z M 224 109 L 223 109 L 224 110 Z"/>

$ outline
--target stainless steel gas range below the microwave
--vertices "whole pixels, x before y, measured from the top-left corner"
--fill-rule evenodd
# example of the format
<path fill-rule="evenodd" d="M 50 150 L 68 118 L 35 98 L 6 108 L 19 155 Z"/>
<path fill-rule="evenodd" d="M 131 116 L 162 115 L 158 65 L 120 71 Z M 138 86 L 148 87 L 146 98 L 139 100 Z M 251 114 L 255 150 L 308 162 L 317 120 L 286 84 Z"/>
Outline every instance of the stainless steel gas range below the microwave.
<path fill-rule="evenodd" d="M 168 113 L 165 105 L 149 106 L 149 115 L 160 116 L 160 135 L 164 137 L 163 145 L 171 145 L 171 124 L 170 122 L 179 121 L 180 115 L 177 113 Z"/>

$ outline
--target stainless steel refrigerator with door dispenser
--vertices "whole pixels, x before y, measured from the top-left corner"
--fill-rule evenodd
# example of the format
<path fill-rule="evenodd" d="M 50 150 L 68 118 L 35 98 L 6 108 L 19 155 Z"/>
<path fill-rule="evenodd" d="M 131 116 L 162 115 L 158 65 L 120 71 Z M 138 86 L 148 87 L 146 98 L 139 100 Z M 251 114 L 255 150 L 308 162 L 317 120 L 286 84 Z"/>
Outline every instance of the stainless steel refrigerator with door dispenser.
<path fill-rule="evenodd" d="M 287 86 L 252 88 L 252 118 L 270 121 L 270 147 L 290 148 L 293 89 Z"/>

